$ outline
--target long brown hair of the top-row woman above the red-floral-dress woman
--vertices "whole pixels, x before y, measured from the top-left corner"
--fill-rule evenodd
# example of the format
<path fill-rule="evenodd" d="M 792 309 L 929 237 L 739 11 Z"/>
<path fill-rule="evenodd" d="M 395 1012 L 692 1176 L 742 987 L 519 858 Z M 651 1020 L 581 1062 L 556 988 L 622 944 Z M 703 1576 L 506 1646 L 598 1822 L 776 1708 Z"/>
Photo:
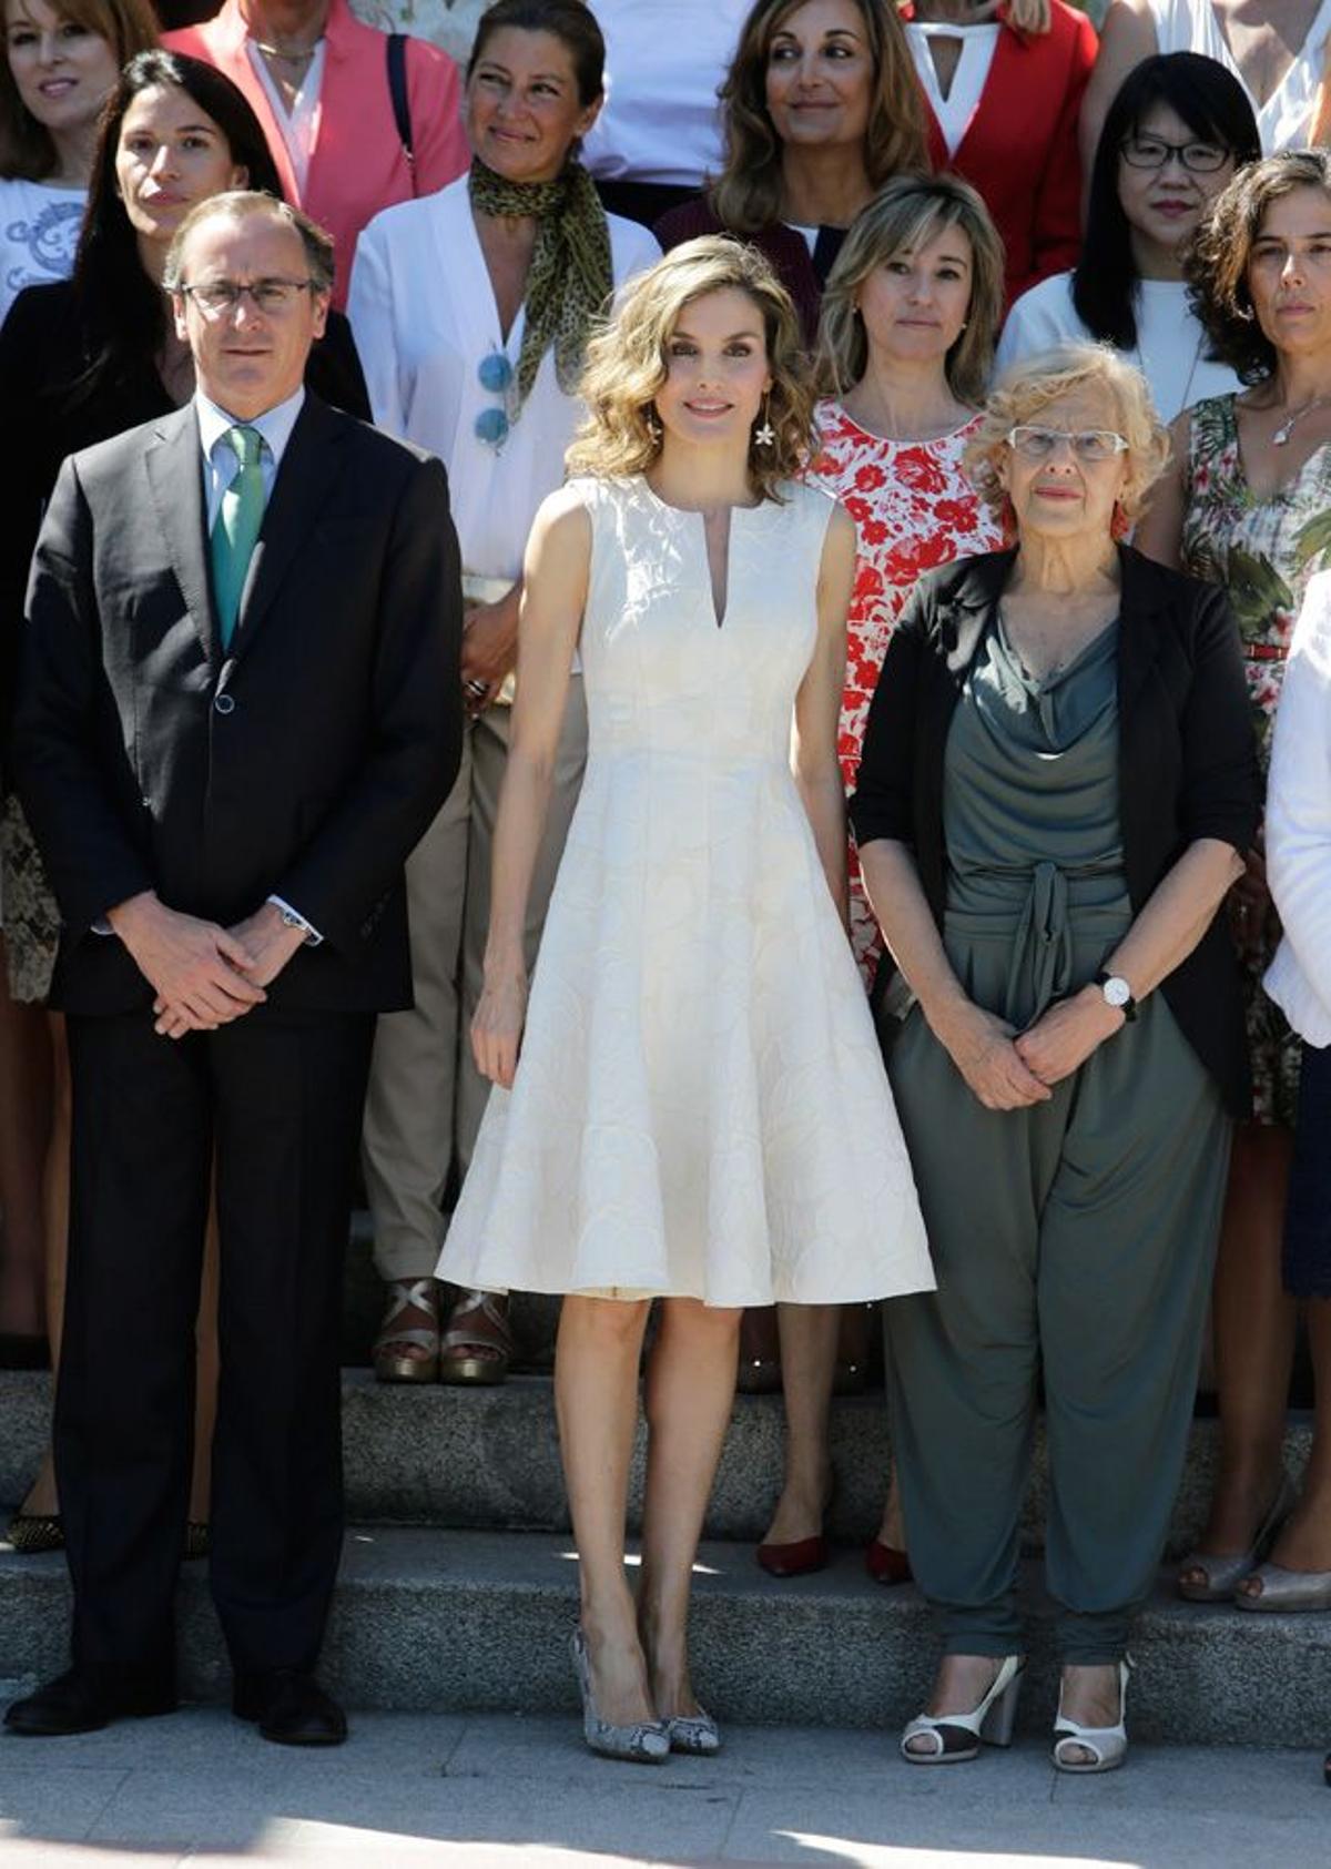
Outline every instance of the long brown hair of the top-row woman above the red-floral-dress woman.
<path fill-rule="evenodd" d="M 710 204 L 716 219 L 737 234 L 761 234 L 781 219 L 781 138 L 766 112 L 766 64 L 778 28 L 800 6 L 804 0 L 757 0 L 716 93 L 725 123 L 725 166 L 710 189 Z M 854 0 L 854 6 L 873 58 L 864 168 L 877 189 L 903 168 L 929 168 L 923 103 L 892 0 Z"/>

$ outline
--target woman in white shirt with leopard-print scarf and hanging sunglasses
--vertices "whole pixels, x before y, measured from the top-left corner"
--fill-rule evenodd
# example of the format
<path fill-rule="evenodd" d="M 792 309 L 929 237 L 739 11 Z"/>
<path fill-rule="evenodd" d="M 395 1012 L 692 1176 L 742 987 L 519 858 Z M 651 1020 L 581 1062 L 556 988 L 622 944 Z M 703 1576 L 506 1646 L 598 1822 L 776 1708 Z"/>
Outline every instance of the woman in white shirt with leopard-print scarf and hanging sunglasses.
<path fill-rule="evenodd" d="M 365 1174 L 387 1288 L 379 1381 L 495 1383 L 514 1348 L 507 1301 L 480 1291 L 460 1295 L 439 1342 L 434 1267 L 445 1181 L 451 1164 L 467 1168 L 488 1090 L 465 1047 L 458 1056 L 458 1030 L 480 994 L 522 553 L 537 506 L 565 477 L 593 320 L 660 256 L 645 228 L 606 215 L 578 159 L 600 110 L 604 56 L 581 0 L 495 0 L 465 75 L 471 170 L 378 215 L 351 273 L 374 419 L 449 469 L 471 718 L 458 783 L 408 862 L 415 1009 L 379 1020 L 370 1069 Z M 527 906 L 529 964 L 585 755 L 576 677 Z"/>

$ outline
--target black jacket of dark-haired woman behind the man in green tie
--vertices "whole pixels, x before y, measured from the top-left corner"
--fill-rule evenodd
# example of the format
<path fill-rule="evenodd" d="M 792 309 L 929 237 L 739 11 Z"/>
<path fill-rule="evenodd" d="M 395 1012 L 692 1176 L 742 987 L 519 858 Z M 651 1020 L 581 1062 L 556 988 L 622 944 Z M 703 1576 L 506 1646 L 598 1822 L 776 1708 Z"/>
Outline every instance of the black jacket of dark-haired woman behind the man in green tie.
<path fill-rule="evenodd" d="M 80 379 L 95 353 L 88 307 L 67 278 L 28 286 L 0 327 L 0 415 L 9 434 L 22 437 L 7 450 L 0 529 L 0 727 L 7 727 L 13 705 L 32 548 L 62 460 L 176 407 L 148 361 L 84 392 Z M 305 387 L 335 409 L 370 421 L 361 359 L 338 312 L 329 312 L 327 333 L 310 350 Z"/>

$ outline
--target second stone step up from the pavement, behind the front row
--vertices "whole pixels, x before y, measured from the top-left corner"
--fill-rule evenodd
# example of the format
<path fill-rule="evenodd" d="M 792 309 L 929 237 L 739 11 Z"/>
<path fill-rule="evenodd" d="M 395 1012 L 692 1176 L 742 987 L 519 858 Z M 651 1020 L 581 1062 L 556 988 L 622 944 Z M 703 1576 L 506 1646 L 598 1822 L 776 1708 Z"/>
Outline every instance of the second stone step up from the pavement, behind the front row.
<path fill-rule="evenodd" d="M 49 1377 L 0 1372 L 0 1501 L 21 1499 L 47 1434 Z M 499 1389 L 404 1389 L 344 1372 L 348 1514 L 353 1521 L 447 1525 L 456 1529 L 565 1531 L 568 1514 L 548 1377 L 516 1376 Z M 707 1531 L 753 1542 L 766 1531 L 781 1482 L 780 1396 L 737 1396 Z M 1310 1430 L 1292 1417 L 1286 1462 L 1303 1469 Z M 1215 1475 L 1217 1424 L 1196 1420 L 1168 1555 L 1195 1540 L 1206 1519 Z M 630 1521 L 641 1506 L 639 1424 Z M 862 1544 L 879 1529 L 890 1469 L 888 1420 L 880 1394 L 843 1396 L 832 1407 L 837 1491 L 830 1531 Z M 1036 1435 L 1026 1546 L 1041 1546 L 1045 1510 L 1043 1432 Z"/>

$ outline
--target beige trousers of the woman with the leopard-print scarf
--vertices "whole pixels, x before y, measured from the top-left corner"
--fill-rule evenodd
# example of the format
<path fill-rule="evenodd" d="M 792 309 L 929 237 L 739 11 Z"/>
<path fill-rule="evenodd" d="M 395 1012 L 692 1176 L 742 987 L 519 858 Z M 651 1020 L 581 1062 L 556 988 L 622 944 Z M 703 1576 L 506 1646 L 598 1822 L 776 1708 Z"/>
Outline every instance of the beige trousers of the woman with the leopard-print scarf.
<path fill-rule="evenodd" d="M 467 1172 L 490 1097 L 490 1084 L 471 1058 L 467 1026 L 482 987 L 508 714 L 507 706 L 490 706 L 471 721 L 458 779 L 408 858 L 415 1007 L 385 1013 L 378 1022 L 363 1129 L 374 1265 L 385 1280 L 434 1277 L 445 1234 L 449 1170 L 456 1159 L 458 1176 Z M 523 949 L 529 970 L 585 764 L 587 703 L 581 675 L 574 675 L 527 897 Z"/>

